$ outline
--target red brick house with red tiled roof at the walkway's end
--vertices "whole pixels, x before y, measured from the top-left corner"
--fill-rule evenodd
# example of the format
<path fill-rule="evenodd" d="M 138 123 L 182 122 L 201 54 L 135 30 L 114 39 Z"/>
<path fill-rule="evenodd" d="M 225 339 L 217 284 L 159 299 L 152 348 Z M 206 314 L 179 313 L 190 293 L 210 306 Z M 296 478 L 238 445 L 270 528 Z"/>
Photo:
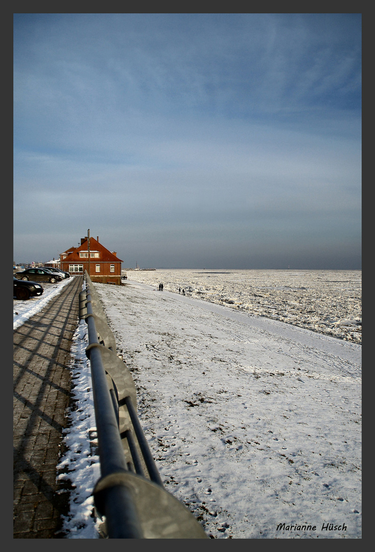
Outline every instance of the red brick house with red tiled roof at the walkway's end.
<path fill-rule="evenodd" d="M 69 274 L 83 274 L 87 270 L 93 282 L 121 285 L 121 259 L 115 251 L 109 251 L 97 240 L 81 238 L 81 245 L 70 247 L 60 254 L 60 268 Z"/>

